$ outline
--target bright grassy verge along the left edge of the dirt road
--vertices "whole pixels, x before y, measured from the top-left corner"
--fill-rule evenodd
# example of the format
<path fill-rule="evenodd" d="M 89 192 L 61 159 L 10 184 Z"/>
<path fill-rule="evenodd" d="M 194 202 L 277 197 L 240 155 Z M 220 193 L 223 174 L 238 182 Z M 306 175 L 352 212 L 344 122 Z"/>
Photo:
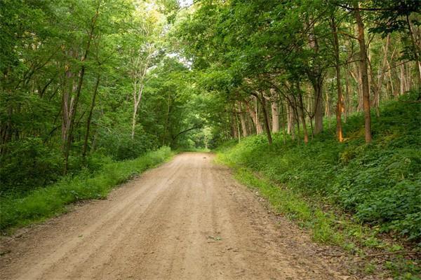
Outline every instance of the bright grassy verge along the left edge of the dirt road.
<path fill-rule="evenodd" d="M 124 181 L 156 167 L 170 159 L 174 153 L 168 147 L 146 153 L 135 160 L 113 162 L 95 174 L 81 173 L 58 183 L 39 188 L 25 197 L 0 198 L 0 231 L 13 232 L 31 223 L 61 214 L 66 205 L 80 200 L 105 199 L 108 193 Z"/>

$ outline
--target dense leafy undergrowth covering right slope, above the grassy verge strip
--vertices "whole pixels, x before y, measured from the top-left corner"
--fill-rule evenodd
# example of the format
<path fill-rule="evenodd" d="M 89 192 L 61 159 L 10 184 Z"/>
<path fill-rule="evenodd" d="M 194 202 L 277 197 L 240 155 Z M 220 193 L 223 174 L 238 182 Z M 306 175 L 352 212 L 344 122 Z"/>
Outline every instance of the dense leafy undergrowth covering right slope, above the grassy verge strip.
<path fill-rule="evenodd" d="M 281 134 L 220 148 L 234 165 L 260 172 L 296 193 L 317 197 L 354 214 L 357 221 L 421 239 L 421 110 L 419 104 L 391 102 L 373 116 L 373 143 L 365 144 L 361 116 L 344 124 L 345 143 L 326 131 L 307 145 L 283 144 Z"/>

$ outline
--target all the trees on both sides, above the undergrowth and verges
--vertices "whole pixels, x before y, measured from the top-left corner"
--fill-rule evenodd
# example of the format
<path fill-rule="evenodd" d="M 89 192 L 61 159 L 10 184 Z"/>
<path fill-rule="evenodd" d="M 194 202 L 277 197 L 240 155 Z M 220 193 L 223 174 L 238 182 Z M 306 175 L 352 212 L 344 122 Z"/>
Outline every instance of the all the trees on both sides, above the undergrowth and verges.
<path fill-rule="evenodd" d="M 370 142 L 370 111 L 421 84 L 416 0 L 4 0 L 0 28 L 5 192 L 333 118 L 346 141 L 355 113 Z"/>

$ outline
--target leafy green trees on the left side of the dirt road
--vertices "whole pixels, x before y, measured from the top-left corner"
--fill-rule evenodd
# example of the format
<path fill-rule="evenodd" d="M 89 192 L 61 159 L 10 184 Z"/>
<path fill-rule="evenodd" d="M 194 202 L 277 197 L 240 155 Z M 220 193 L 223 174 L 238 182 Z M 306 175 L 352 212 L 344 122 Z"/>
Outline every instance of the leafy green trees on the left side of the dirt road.
<path fill-rule="evenodd" d="M 173 137 L 199 118 L 187 67 L 165 50 L 171 7 L 176 1 L 2 1 L 0 195 L 183 141 Z"/>

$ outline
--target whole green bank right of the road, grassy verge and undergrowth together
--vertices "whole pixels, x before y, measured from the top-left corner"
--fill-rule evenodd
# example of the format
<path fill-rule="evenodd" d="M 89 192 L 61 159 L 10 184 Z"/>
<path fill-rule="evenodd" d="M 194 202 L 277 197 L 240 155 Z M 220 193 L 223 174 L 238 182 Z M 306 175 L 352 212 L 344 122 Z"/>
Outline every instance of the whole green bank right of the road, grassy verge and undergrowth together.
<path fill-rule="evenodd" d="M 344 125 L 342 144 L 333 130 L 307 146 L 284 144 L 281 134 L 268 146 L 264 136 L 254 136 L 218 148 L 218 160 L 274 211 L 311 230 L 315 241 L 362 258 L 372 251 L 420 251 L 420 118 L 419 104 L 392 102 L 380 118 L 373 116 L 372 144 L 363 141 L 362 116 L 354 116 Z M 419 260 L 388 258 L 382 266 L 396 279 L 420 279 Z"/>

